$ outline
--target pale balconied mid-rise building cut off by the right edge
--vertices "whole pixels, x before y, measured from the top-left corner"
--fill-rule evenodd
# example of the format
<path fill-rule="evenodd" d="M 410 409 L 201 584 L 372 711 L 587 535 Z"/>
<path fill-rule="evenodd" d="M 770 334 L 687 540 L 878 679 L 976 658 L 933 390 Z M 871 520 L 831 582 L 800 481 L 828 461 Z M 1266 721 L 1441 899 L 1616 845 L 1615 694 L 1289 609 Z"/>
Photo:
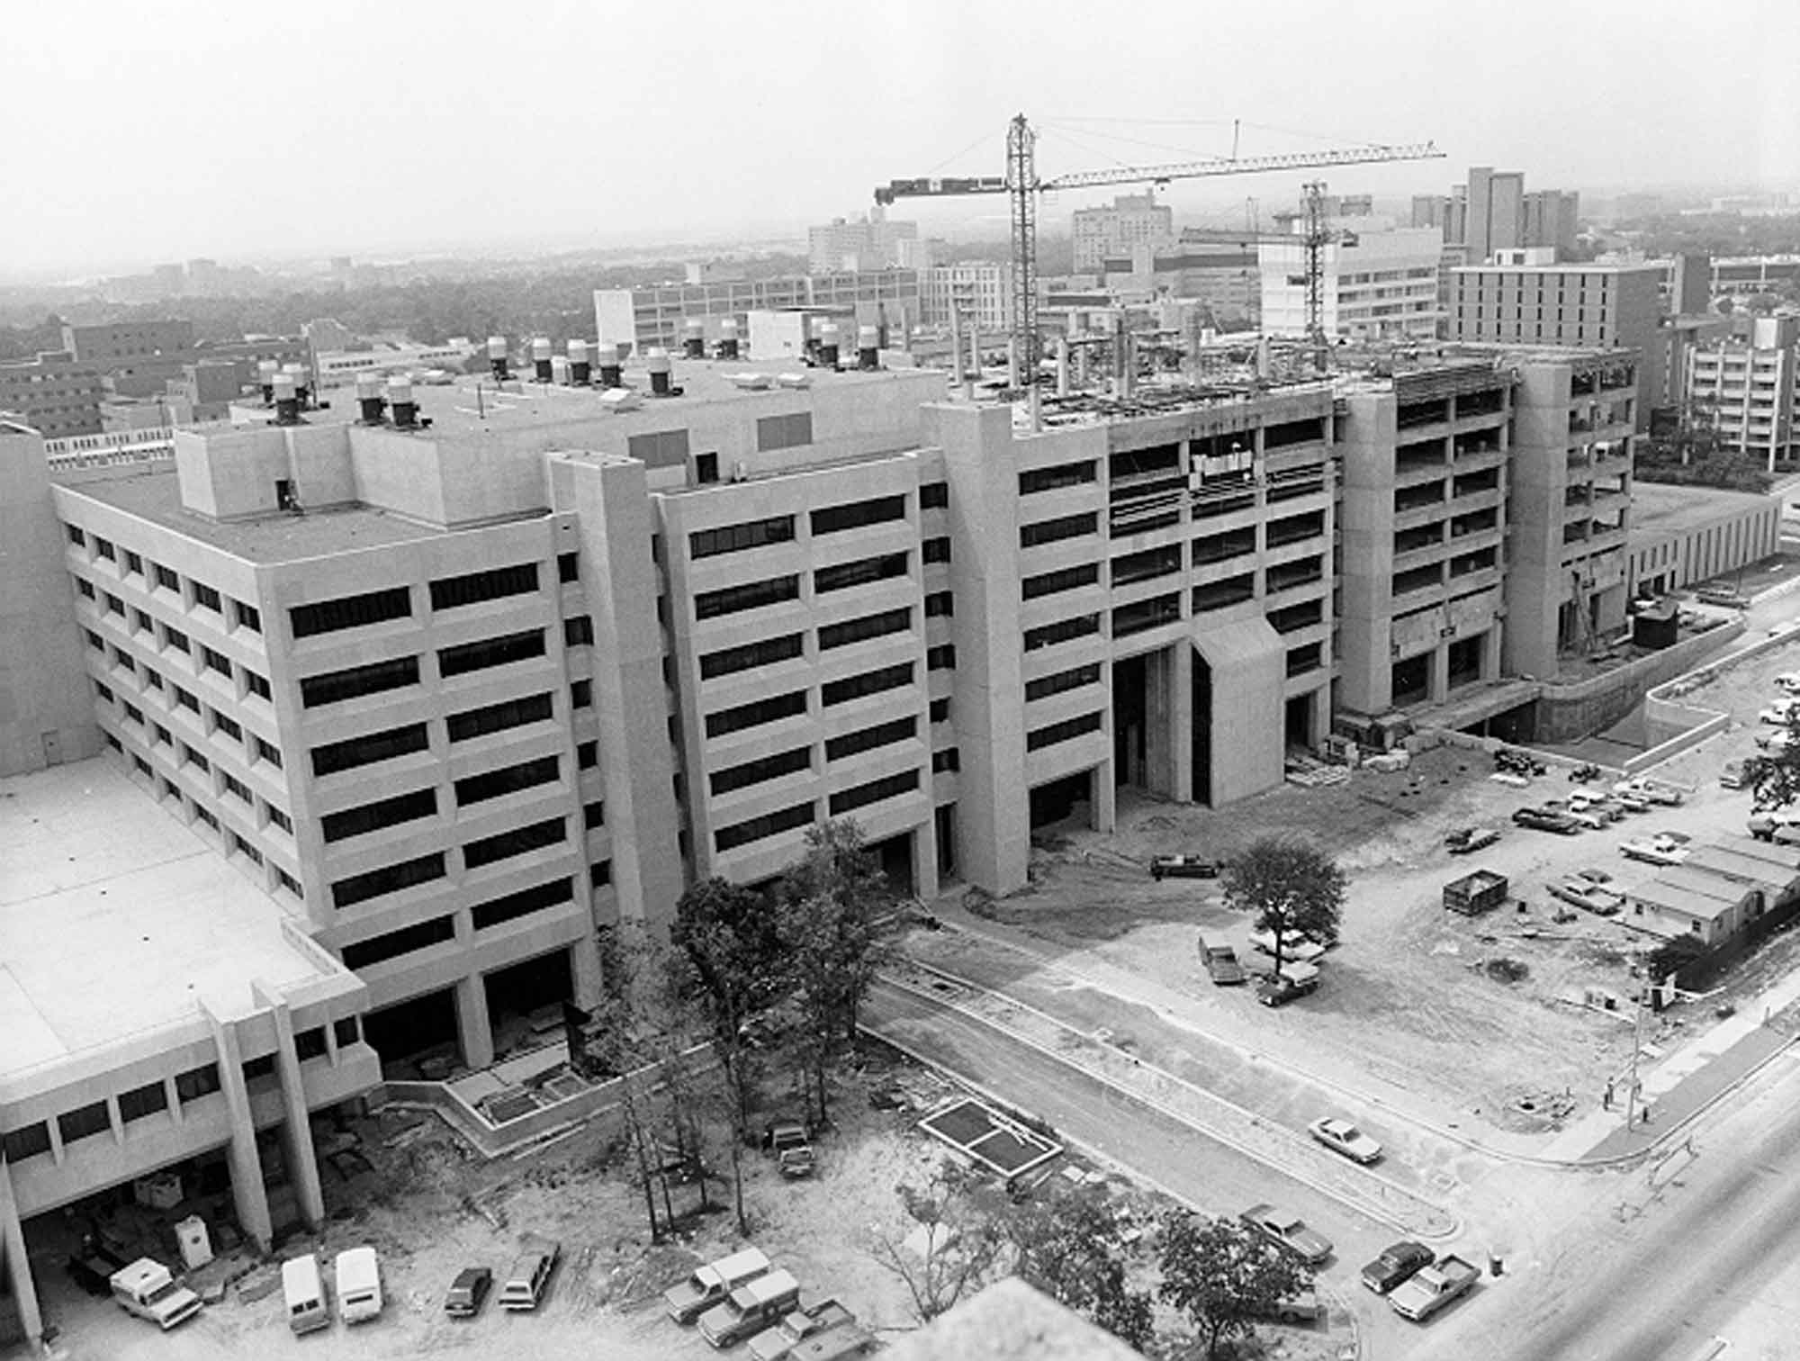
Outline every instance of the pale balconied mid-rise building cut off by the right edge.
<path fill-rule="evenodd" d="M 1800 457 L 1800 317 L 1755 317 L 1750 333 L 1687 351 L 1687 407 L 1719 441 L 1769 472 Z"/>

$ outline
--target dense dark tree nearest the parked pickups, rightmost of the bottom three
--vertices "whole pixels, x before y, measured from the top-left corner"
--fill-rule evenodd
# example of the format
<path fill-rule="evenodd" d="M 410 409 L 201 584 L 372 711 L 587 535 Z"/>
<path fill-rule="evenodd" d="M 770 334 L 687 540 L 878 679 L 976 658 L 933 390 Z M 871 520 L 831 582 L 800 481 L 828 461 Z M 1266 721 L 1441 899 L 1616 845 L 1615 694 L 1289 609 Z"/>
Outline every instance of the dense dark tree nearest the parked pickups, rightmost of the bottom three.
<path fill-rule="evenodd" d="M 1163 1221 L 1161 1267 L 1157 1296 L 1193 1321 L 1208 1361 L 1222 1341 L 1249 1336 L 1258 1318 L 1312 1284 L 1312 1271 L 1260 1233 L 1186 1210 Z"/>

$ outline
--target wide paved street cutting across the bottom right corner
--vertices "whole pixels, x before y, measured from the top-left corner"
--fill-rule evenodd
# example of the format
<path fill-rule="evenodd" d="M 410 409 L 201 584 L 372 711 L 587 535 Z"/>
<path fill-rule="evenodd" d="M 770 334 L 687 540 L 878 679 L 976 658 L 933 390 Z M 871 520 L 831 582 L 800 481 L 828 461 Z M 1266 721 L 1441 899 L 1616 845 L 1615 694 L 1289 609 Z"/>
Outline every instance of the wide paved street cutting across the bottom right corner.
<path fill-rule="evenodd" d="M 1800 1253 L 1800 1064 L 1780 1062 L 1757 1095 L 1679 1150 L 1663 1183 L 1609 1185 L 1579 1230 L 1512 1284 L 1508 1307 L 1453 1305 L 1409 1357 L 1507 1361 L 1694 1361 L 1715 1338 L 1728 1356 L 1795 1357 L 1751 1338 Z"/>

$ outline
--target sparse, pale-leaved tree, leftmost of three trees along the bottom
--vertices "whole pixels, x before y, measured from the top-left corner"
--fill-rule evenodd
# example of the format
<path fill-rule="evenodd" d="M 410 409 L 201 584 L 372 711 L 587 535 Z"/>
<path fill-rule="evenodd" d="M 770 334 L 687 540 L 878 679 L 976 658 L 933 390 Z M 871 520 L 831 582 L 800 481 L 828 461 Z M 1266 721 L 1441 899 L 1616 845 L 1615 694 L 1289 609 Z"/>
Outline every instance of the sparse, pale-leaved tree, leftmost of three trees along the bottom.
<path fill-rule="evenodd" d="M 997 1273 L 1008 1248 L 999 1194 L 949 1161 L 923 1186 L 902 1181 L 895 1194 L 909 1228 L 877 1230 L 869 1257 L 905 1284 L 918 1321 L 931 1323 Z M 922 1251 L 907 1246 L 913 1235 Z"/>

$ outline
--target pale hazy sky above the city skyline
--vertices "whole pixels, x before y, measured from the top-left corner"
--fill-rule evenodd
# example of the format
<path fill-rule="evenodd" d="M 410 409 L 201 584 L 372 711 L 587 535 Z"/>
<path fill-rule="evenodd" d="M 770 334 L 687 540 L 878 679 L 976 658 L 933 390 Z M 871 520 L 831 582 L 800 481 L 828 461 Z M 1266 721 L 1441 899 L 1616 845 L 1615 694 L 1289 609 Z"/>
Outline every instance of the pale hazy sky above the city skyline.
<path fill-rule="evenodd" d="M 1220 155 L 1242 119 L 1244 155 L 1449 157 L 1330 173 L 1345 193 L 1471 164 L 1800 187 L 1800 0 L 38 0 L 0 43 L 0 274 L 805 223 L 1001 173 L 1015 112 L 1044 175 Z M 1301 178 L 1166 202 L 1269 209 Z"/>

